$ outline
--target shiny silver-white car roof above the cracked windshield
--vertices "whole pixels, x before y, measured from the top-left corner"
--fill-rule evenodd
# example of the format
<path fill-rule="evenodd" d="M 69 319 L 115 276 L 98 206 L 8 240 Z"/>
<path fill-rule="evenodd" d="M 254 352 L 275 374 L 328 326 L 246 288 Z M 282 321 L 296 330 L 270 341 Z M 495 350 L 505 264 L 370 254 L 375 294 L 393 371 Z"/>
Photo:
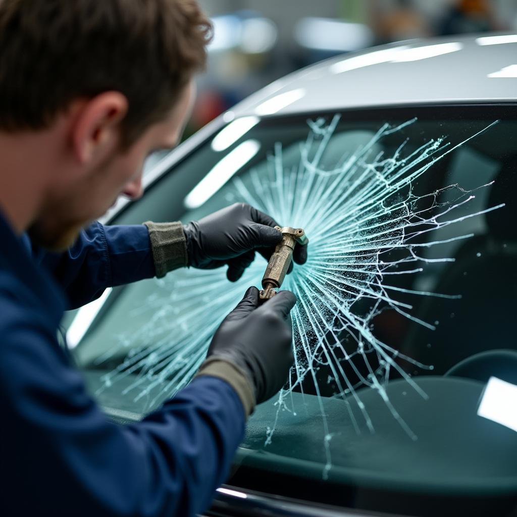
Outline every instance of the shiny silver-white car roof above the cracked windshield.
<path fill-rule="evenodd" d="M 517 34 L 490 33 L 413 39 L 336 56 L 259 90 L 227 119 L 516 99 Z"/>

